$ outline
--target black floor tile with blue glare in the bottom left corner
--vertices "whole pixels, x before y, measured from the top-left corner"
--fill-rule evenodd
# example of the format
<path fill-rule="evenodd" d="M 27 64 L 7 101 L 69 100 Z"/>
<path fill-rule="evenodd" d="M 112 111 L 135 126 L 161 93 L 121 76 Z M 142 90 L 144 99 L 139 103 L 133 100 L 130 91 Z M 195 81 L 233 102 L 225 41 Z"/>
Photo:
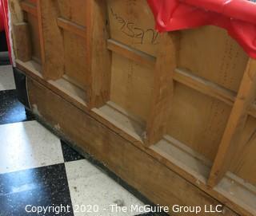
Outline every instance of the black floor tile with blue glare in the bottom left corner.
<path fill-rule="evenodd" d="M 55 212 L 26 212 L 32 206 L 54 206 Z M 70 212 L 57 214 L 60 206 L 70 206 Z M 0 175 L 0 215 L 74 215 L 64 163 Z"/>

